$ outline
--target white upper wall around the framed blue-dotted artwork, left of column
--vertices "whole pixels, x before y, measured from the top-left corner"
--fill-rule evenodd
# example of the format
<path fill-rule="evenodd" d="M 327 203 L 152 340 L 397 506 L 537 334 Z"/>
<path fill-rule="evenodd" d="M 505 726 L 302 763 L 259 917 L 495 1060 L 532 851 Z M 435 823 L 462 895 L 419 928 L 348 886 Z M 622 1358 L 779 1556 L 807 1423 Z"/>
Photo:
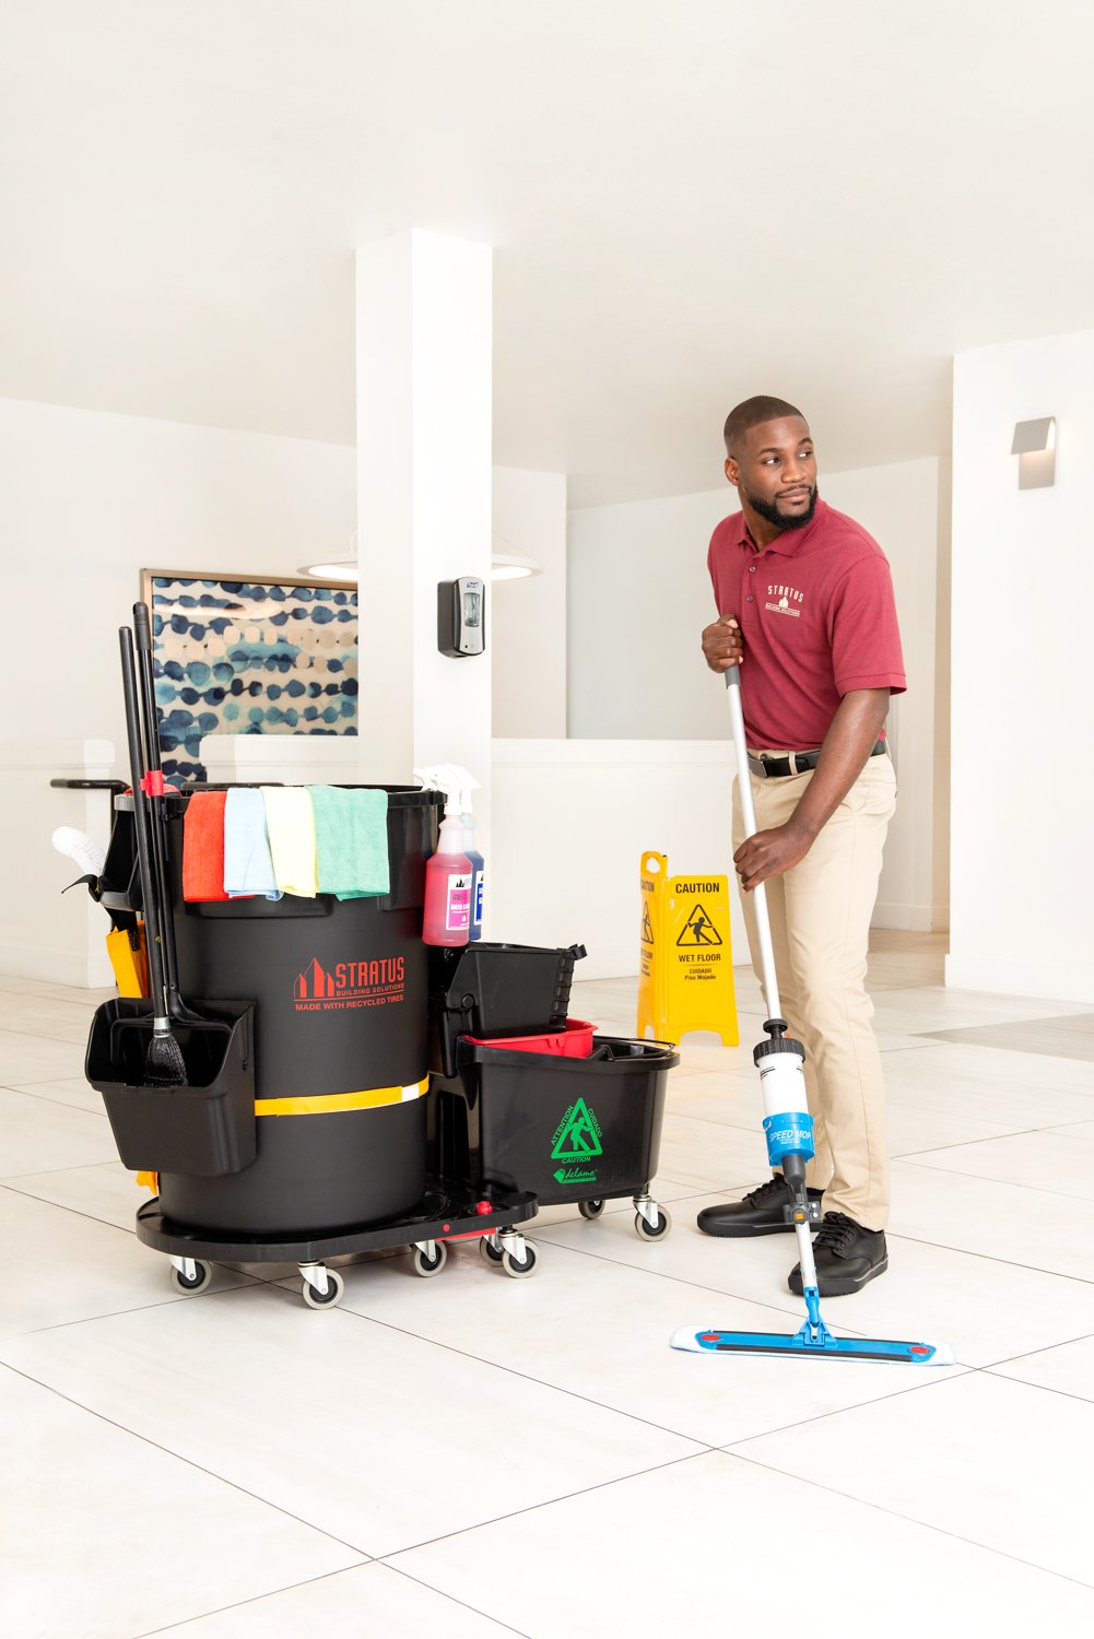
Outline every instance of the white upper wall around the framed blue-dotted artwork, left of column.
<path fill-rule="evenodd" d="M 277 575 L 348 556 L 341 444 L 0 400 L 0 447 L 11 739 L 123 752 L 116 633 L 141 565 Z"/>

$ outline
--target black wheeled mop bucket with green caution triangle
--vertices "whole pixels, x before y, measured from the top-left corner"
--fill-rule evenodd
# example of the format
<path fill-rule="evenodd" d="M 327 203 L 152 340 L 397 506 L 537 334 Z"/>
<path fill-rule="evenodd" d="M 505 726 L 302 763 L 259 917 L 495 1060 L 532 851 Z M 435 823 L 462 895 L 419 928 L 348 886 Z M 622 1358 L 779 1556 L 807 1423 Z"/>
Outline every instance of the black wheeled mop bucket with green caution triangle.
<path fill-rule="evenodd" d="M 541 1206 L 645 1192 L 679 1054 L 613 1036 L 597 1036 L 594 1052 L 564 1059 L 459 1042 L 472 1183 L 531 1190 Z"/>

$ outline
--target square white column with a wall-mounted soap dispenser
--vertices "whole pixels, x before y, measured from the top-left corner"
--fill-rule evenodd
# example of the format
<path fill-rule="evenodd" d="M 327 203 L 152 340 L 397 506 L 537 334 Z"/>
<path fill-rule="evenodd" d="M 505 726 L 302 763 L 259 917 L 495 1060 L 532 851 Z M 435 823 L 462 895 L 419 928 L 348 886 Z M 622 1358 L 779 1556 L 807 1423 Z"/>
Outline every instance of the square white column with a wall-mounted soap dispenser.
<path fill-rule="evenodd" d="M 490 816 L 492 252 L 413 229 L 358 249 L 361 777 L 461 762 Z M 436 583 L 487 583 L 485 656 L 436 647 Z"/>

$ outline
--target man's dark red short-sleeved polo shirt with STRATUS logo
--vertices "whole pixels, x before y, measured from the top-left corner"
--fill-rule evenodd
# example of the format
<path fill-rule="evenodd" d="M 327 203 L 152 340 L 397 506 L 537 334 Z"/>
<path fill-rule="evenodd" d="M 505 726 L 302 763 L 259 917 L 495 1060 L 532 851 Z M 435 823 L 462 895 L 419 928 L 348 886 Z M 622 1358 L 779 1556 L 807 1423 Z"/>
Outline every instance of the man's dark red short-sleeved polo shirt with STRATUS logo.
<path fill-rule="evenodd" d="M 904 693 L 904 656 L 889 562 L 873 536 L 817 502 L 805 529 L 756 551 L 743 513 L 710 538 L 718 615 L 745 638 L 741 705 L 756 751 L 820 746 L 853 688 Z"/>

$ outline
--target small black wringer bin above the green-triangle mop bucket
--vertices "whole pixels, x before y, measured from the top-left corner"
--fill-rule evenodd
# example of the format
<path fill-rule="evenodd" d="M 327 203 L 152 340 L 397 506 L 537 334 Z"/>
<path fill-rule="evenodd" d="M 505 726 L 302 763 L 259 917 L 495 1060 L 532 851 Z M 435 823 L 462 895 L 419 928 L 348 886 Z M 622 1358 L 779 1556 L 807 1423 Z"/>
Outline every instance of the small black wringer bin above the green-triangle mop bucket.
<path fill-rule="evenodd" d="M 540 1036 L 563 1029 L 584 944 L 553 951 L 479 941 L 430 951 L 430 1057 L 456 1074 L 459 1036 Z"/>

